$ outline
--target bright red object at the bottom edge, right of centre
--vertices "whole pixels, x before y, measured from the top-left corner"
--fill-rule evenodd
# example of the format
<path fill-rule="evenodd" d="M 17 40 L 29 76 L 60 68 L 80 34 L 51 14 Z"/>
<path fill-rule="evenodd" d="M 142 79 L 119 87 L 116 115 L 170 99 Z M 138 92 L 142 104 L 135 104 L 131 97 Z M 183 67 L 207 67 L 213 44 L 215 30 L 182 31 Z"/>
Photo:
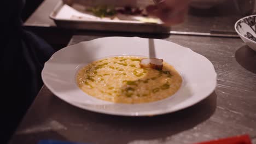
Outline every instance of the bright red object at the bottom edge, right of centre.
<path fill-rule="evenodd" d="M 252 141 L 249 135 L 240 135 L 195 144 L 252 144 Z"/>

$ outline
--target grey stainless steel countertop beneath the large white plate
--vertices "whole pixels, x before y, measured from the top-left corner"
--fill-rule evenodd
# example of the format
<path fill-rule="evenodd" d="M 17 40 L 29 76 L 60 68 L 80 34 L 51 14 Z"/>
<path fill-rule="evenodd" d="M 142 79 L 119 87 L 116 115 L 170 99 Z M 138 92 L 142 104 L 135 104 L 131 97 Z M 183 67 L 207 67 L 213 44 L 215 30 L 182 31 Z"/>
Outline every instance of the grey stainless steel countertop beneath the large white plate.
<path fill-rule="evenodd" d="M 69 44 L 108 36 L 113 34 L 74 35 Z M 69 105 L 44 86 L 10 144 L 34 144 L 42 139 L 183 144 L 242 134 L 249 134 L 256 143 L 256 52 L 238 38 L 150 37 L 189 47 L 210 59 L 218 74 L 216 90 L 200 103 L 178 112 L 155 117 L 119 117 Z"/>

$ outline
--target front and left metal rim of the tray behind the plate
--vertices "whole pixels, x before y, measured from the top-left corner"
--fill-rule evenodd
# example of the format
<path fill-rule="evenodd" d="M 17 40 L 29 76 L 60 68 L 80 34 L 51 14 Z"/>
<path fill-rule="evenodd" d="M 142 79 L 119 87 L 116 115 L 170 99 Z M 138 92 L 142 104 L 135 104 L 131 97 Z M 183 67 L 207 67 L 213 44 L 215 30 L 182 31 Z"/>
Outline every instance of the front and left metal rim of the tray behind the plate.
<path fill-rule="evenodd" d="M 50 19 L 54 20 L 57 26 L 72 29 L 89 29 L 100 31 L 119 32 L 143 32 L 143 33 L 170 33 L 170 27 L 159 23 L 147 23 L 127 20 L 79 20 L 79 19 L 59 19 L 56 15 L 65 5 L 59 2 L 50 14 Z M 71 6 L 72 7 L 72 6 Z"/>

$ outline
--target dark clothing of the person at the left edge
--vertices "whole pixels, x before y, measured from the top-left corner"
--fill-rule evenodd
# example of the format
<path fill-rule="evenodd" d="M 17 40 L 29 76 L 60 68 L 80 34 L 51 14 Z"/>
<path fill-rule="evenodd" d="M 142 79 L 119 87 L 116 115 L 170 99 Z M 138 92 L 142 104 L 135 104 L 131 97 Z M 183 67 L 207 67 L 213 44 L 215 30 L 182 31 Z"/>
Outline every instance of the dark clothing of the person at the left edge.
<path fill-rule="evenodd" d="M 9 139 L 42 87 L 41 71 L 54 52 L 44 40 L 22 27 L 20 15 L 24 3 L 22 0 L 1 1 L 0 143 Z"/>

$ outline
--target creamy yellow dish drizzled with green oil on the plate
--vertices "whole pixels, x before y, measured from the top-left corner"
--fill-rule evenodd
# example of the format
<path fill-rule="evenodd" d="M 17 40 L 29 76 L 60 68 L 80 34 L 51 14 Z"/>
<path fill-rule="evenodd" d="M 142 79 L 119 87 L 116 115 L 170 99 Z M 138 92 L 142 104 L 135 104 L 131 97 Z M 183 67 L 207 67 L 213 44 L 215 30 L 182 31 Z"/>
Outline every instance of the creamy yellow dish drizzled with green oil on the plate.
<path fill-rule="evenodd" d="M 114 103 L 149 103 L 178 91 L 182 77 L 164 62 L 162 70 L 141 68 L 144 57 L 120 56 L 95 61 L 80 69 L 77 84 L 85 93 Z"/>

